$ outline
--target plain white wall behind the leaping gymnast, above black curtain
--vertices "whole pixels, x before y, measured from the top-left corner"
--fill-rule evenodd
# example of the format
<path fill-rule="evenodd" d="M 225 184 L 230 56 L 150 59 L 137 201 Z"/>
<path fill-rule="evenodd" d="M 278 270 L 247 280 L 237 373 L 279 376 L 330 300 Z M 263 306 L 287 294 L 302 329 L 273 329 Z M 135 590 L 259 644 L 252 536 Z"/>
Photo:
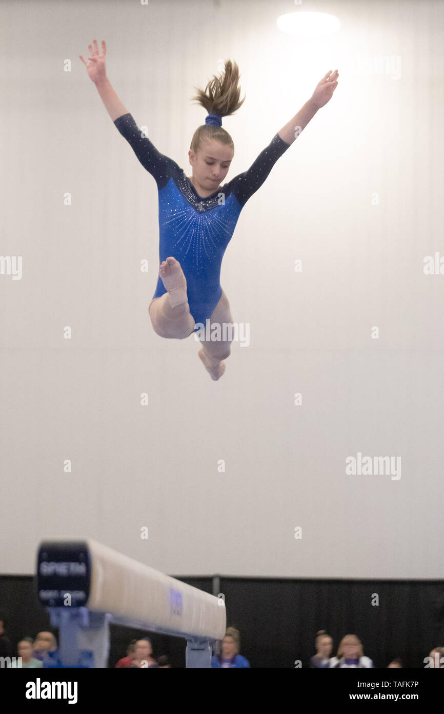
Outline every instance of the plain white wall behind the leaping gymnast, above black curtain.
<path fill-rule="evenodd" d="M 23 260 L 0 276 L 2 573 L 88 536 L 172 575 L 442 577 L 443 3 L 320 2 L 341 32 L 308 43 L 277 29 L 293 9 L 1 3 L 0 255 Z M 218 382 L 150 326 L 157 188 L 78 59 L 94 38 L 187 175 L 194 87 L 238 62 L 227 181 L 340 71 L 239 218 L 221 283 L 251 341 Z M 346 474 L 358 452 L 401 478 Z"/>

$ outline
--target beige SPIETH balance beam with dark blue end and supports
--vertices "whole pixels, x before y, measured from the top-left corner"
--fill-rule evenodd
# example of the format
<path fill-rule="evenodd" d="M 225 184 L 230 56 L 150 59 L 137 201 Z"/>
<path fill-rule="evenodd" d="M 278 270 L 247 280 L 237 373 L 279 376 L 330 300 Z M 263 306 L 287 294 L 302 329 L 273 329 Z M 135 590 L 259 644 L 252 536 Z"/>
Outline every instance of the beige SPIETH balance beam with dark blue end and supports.
<path fill-rule="evenodd" d="M 38 599 L 59 628 L 58 666 L 106 667 L 109 623 L 187 640 L 186 666 L 210 667 L 227 618 L 222 598 L 95 540 L 44 540 Z"/>

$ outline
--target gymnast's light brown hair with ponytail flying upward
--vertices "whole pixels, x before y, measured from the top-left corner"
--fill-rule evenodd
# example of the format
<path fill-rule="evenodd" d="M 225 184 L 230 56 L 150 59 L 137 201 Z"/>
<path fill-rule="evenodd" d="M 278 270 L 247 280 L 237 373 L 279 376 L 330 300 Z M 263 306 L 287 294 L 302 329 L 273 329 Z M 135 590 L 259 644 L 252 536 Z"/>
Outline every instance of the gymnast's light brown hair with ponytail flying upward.
<path fill-rule="evenodd" d="M 220 72 L 219 76 L 213 74 L 213 79 L 210 79 L 205 90 L 195 87 L 197 94 L 192 97 L 192 101 L 203 106 L 208 114 L 231 116 L 245 101 L 245 96 L 244 99 L 239 101 L 240 87 L 238 82 L 239 67 L 236 62 L 226 59 L 223 71 Z M 201 124 L 192 136 L 190 149 L 196 153 L 200 149 L 202 141 L 207 139 L 215 139 L 215 141 L 220 141 L 221 144 L 231 145 L 234 148 L 231 136 L 229 136 L 228 131 L 222 129 L 222 126 Z"/>

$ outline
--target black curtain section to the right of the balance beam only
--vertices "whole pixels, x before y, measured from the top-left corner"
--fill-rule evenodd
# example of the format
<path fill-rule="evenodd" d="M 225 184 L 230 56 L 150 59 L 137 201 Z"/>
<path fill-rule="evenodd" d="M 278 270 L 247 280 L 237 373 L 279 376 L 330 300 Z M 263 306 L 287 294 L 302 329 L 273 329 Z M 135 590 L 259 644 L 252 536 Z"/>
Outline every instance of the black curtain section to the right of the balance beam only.
<path fill-rule="evenodd" d="M 423 668 L 430 650 L 444 645 L 442 580 L 221 578 L 220 591 L 252 667 L 294 668 L 296 660 L 308 667 L 318 630 L 333 638 L 333 655 L 344 635 L 358 635 L 377 668 L 395 657 Z"/>

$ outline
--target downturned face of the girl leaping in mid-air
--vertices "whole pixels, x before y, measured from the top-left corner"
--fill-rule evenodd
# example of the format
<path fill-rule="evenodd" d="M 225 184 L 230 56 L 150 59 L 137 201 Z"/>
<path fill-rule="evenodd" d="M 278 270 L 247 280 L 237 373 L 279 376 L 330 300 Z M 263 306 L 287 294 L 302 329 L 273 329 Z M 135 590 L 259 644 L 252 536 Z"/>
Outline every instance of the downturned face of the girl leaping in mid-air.
<path fill-rule="evenodd" d="M 234 149 L 227 144 L 221 144 L 220 141 L 207 139 L 202 142 L 196 154 L 190 149 L 188 156 L 193 178 L 208 191 L 217 191 L 227 176 Z"/>

